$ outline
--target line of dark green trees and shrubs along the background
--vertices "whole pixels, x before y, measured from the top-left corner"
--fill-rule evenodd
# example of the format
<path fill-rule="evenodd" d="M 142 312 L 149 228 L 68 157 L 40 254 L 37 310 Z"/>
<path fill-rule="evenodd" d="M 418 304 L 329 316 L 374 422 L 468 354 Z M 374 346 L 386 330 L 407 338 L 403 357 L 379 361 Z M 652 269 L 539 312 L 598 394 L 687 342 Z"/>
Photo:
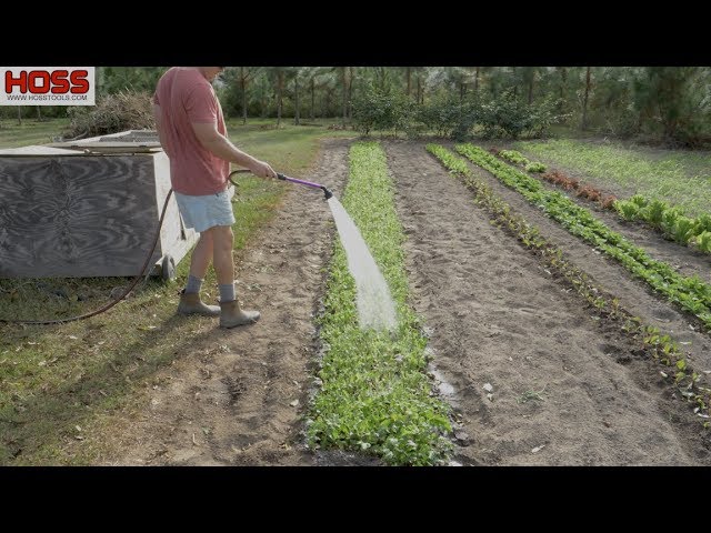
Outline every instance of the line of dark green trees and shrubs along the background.
<path fill-rule="evenodd" d="M 97 99 L 152 92 L 166 70 L 98 67 Z M 480 109 L 514 102 L 523 110 L 544 105 L 560 123 L 581 131 L 690 148 L 711 142 L 709 67 L 229 67 L 214 87 L 226 115 L 242 122 L 337 119 L 352 127 L 358 103 L 378 95 L 403 102 L 408 113 L 443 101 Z M 0 112 L 7 121 L 62 117 L 67 110 Z"/>

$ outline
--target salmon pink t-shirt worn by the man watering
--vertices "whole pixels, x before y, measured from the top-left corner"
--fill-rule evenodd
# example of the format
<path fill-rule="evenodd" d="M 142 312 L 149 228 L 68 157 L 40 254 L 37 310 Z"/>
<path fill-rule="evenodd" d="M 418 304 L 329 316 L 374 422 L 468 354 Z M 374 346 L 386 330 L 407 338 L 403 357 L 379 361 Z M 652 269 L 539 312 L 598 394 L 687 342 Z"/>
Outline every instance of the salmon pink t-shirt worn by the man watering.
<path fill-rule="evenodd" d="M 222 108 L 210 82 L 198 69 L 173 67 L 159 80 L 153 101 L 161 109 L 163 149 L 170 159 L 173 190 L 190 195 L 223 191 L 229 161 L 204 149 L 190 125 L 213 123 L 220 133 L 227 134 Z"/>

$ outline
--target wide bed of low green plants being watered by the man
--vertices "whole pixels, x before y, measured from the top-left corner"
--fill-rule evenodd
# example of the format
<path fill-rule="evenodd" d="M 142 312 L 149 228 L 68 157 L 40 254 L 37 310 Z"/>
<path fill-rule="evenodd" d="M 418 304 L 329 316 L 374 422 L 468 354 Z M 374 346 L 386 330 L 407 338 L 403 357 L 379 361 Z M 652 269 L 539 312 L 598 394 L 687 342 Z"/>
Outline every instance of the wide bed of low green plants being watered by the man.
<path fill-rule="evenodd" d="M 398 311 L 393 332 L 361 330 L 356 284 L 337 241 L 330 269 L 321 340 L 320 391 L 310 405 L 311 446 L 364 451 L 388 464 L 434 465 L 451 443 L 448 406 L 432 394 L 425 374 L 427 339 L 408 305 L 402 244 L 385 154 L 377 142 L 351 148 L 343 205 L 379 265 Z"/>

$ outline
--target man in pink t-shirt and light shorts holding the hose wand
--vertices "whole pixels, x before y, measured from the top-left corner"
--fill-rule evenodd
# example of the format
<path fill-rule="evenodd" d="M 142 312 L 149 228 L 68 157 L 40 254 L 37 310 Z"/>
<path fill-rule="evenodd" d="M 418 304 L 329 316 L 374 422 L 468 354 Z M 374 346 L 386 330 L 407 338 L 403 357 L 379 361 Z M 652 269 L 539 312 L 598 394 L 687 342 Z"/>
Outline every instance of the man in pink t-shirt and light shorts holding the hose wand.
<path fill-rule="evenodd" d="M 261 178 L 277 178 L 277 173 L 227 138 L 222 108 L 211 84 L 223 69 L 169 69 L 158 81 L 153 115 L 160 143 L 170 159 L 178 208 L 187 227 L 200 233 L 178 312 L 220 315 L 221 328 L 234 328 L 256 322 L 260 313 L 240 309 L 234 293 L 234 214 L 227 193 L 230 163 L 246 167 Z M 220 306 L 207 305 L 200 299 L 210 260 L 220 286 Z"/>

